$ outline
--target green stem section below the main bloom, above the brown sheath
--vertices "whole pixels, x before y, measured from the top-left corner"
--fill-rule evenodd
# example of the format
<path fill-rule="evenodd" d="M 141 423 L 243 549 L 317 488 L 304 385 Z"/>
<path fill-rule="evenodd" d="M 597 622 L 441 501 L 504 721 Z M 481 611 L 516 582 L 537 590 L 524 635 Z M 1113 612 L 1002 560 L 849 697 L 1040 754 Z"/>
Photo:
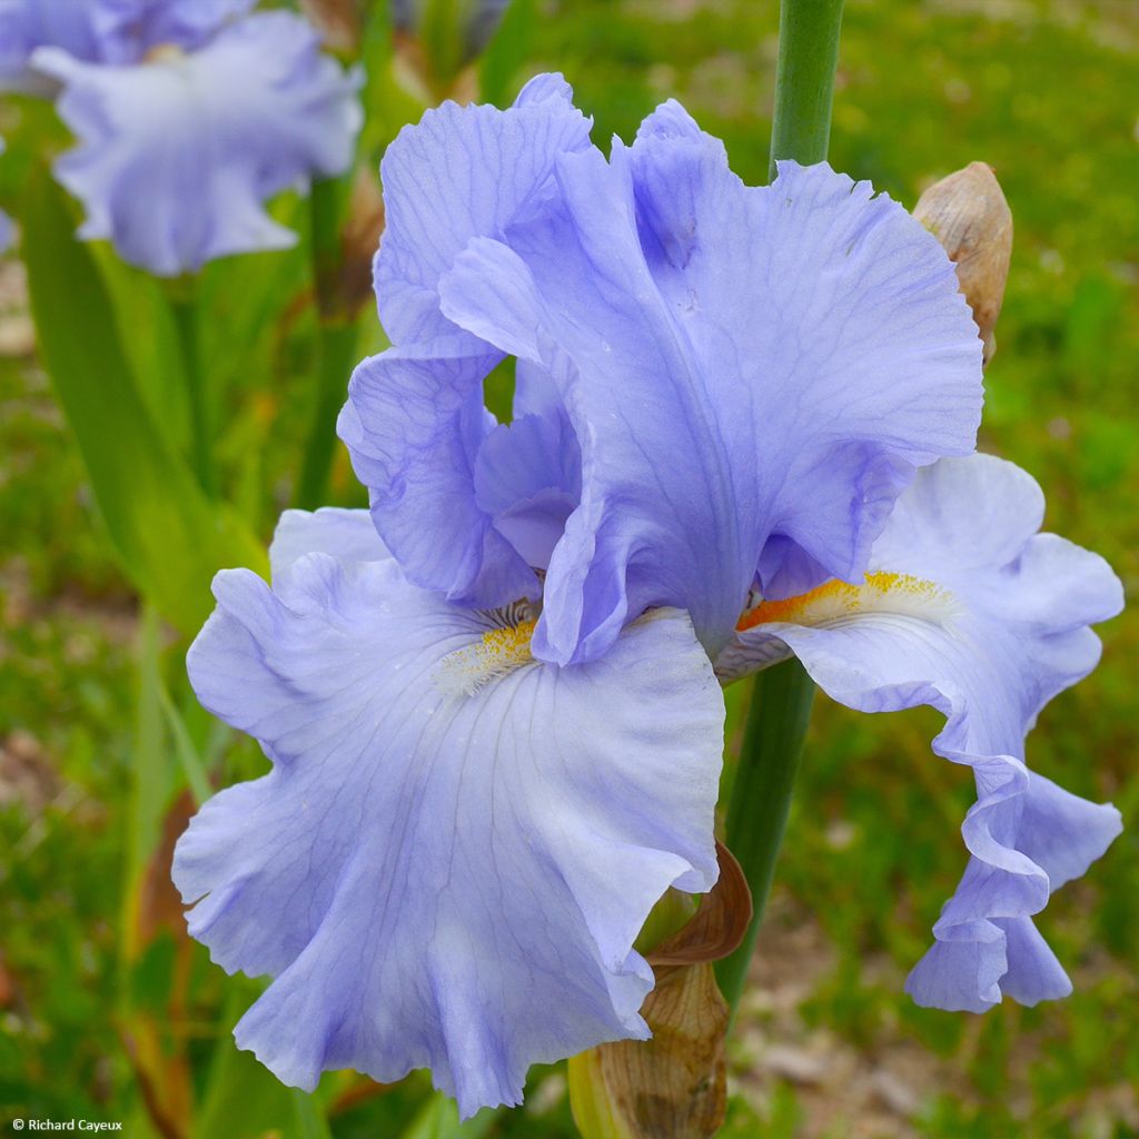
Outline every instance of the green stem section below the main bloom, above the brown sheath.
<path fill-rule="evenodd" d="M 785 661 L 755 678 L 736 784 L 728 806 L 728 849 L 752 888 L 754 913 L 744 941 L 716 964 L 716 981 L 735 1011 L 771 893 L 790 794 L 811 719 L 814 685 L 798 661 Z"/>

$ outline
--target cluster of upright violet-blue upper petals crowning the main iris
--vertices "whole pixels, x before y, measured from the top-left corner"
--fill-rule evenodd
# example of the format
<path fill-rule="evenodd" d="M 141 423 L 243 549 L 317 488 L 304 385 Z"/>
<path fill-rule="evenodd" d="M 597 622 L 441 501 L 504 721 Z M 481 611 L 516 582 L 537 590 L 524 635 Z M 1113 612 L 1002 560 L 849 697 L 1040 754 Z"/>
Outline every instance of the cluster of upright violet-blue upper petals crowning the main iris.
<path fill-rule="evenodd" d="M 608 162 L 588 128 L 543 76 L 401 133 L 376 265 L 394 347 L 357 370 L 342 436 L 409 576 L 503 604 L 533 575 L 478 486 L 482 382 L 516 357 L 581 451 L 535 654 L 588 659 L 674 605 L 714 655 L 753 587 L 857 579 L 915 469 L 973 450 L 976 327 L 936 240 L 868 185 L 784 164 L 746 187 L 675 104 Z M 522 489 L 572 493 L 549 475 Z"/>

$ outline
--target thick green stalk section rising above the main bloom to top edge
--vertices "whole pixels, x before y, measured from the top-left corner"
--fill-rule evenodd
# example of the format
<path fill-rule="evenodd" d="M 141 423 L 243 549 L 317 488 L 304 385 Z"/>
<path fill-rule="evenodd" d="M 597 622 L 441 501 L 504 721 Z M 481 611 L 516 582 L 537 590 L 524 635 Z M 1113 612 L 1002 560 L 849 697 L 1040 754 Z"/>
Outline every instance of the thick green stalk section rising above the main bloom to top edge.
<path fill-rule="evenodd" d="M 843 0 L 782 0 L 771 124 L 771 178 L 777 158 L 823 162 L 838 64 Z"/>

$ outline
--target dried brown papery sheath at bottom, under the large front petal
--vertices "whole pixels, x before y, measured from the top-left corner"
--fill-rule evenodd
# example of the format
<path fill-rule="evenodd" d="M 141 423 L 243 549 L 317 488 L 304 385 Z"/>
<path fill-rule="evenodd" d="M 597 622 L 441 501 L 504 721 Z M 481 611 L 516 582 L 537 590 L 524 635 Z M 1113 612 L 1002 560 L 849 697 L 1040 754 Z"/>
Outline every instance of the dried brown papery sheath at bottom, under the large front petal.
<path fill-rule="evenodd" d="M 656 985 L 641 1006 L 653 1039 L 601 1044 L 570 1060 L 570 1100 L 584 1139 L 700 1139 L 727 1105 L 728 1005 L 712 962 L 739 945 L 752 899 L 716 844 L 720 879 L 696 916 L 647 953 Z"/>

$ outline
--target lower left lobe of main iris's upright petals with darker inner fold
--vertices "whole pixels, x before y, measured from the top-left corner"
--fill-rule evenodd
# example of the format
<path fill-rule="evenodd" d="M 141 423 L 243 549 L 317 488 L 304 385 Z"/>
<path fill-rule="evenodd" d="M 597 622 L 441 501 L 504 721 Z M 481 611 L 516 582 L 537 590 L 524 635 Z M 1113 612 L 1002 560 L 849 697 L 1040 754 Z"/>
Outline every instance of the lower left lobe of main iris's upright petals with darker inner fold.
<path fill-rule="evenodd" d="M 499 357 L 461 337 L 390 349 L 352 377 L 339 436 L 376 528 L 416 584 L 456 603 L 536 597 L 534 567 L 580 492 L 564 415 L 497 424 L 483 377 Z"/>

